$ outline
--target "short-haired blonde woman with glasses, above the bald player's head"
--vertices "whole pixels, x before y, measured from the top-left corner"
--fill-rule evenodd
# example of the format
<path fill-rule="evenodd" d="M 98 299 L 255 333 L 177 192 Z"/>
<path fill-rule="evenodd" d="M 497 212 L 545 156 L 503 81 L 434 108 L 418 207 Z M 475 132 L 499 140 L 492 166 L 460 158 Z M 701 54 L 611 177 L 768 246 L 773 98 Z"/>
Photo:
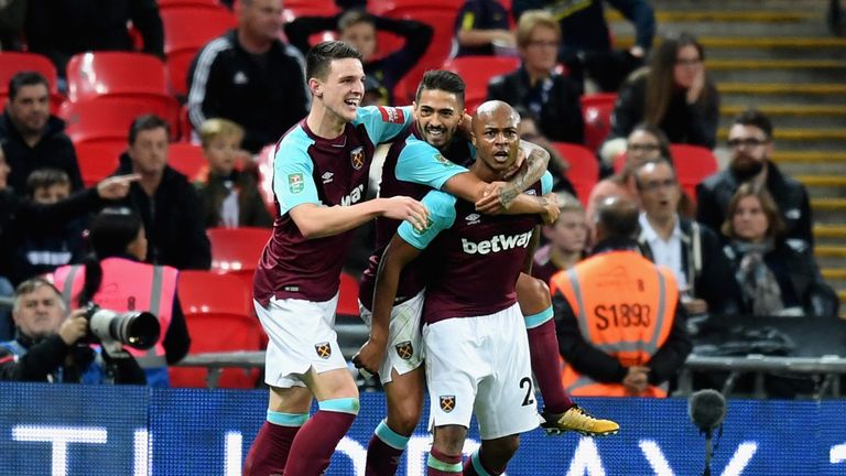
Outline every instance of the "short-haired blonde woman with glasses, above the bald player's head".
<path fill-rule="evenodd" d="M 561 30 L 549 13 L 522 15 L 517 25 L 522 65 L 488 83 L 488 100 L 523 106 L 540 118 L 539 126 L 549 140 L 581 144 L 585 139 L 581 88 L 555 72 L 560 41 Z"/>

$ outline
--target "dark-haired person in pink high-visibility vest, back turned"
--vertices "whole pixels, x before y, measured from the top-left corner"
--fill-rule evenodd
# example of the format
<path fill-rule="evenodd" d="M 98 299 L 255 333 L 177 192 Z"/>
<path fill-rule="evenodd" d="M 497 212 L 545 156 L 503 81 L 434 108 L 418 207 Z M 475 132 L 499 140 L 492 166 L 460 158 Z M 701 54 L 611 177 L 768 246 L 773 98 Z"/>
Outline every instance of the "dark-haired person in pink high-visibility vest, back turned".
<path fill-rule="evenodd" d="M 159 318 L 161 333 L 150 350 L 128 349 L 141 359 L 151 387 L 169 387 L 167 366 L 188 353 L 191 338 L 176 295 L 178 271 L 144 264 L 147 238 L 141 219 L 128 208 L 105 208 L 91 223 L 89 241 L 94 256 L 85 264 L 56 270 L 56 288 L 65 300 L 94 302 L 102 309 L 142 310 Z M 154 305 L 159 305 L 154 309 Z"/>

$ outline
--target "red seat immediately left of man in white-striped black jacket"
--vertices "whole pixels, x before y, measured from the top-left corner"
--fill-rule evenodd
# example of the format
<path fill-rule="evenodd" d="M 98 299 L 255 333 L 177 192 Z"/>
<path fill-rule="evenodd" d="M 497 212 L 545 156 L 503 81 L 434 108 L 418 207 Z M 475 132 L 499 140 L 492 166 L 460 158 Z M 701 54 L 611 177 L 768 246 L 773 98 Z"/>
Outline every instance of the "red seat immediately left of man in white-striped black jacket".
<path fill-rule="evenodd" d="M 169 8 L 160 12 L 164 24 L 164 55 L 171 90 L 187 94 L 187 75 L 197 51 L 217 36 L 238 25 L 225 8 Z"/>

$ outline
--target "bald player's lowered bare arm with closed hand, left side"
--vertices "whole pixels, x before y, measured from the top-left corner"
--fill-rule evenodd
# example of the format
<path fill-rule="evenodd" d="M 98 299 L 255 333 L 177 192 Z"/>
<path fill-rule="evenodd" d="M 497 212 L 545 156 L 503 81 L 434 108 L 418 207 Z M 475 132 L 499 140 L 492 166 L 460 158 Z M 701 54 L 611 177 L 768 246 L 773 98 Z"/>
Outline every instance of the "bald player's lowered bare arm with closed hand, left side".
<path fill-rule="evenodd" d="M 376 277 L 370 338 L 352 357 L 356 367 L 364 368 L 370 374 L 376 374 L 379 370 L 388 345 L 388 327 L 391 321 L 393 300 L 397 299 L 400 273 L 408 263 L 420 256 L 420 252 L 417 248 L 409 245 L 399 235 L 394 235 L 386 248 Z"/>

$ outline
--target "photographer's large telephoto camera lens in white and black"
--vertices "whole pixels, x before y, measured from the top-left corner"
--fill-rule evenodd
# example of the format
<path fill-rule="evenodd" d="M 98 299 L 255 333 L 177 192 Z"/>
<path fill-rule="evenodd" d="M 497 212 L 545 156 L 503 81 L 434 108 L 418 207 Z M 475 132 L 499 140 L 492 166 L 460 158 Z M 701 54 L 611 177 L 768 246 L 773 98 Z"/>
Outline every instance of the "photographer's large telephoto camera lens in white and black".
<path fill-rule="evenodd" d="M 159 342 L 159 320 L 145 311 L 118 312 L 105 310 L 95 303 L 85 307 L 90 342 L 118 342 L 140 350 L 147 350 Z"/>

